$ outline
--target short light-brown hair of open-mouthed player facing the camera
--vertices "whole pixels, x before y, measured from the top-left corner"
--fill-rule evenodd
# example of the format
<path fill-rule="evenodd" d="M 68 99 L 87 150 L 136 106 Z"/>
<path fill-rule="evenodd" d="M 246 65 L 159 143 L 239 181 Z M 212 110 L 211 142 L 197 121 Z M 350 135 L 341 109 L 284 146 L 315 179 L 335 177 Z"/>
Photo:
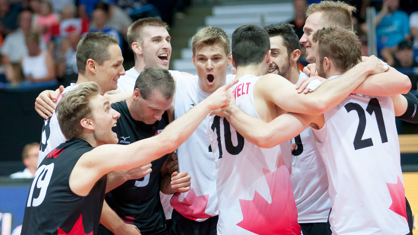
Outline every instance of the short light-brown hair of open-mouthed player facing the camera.
<path fill-rule="evenodd" d="M 221 46 L 225 54 L 229 56 L 229 53 L 231 53 L 231 42 L 229 41 L 228 34 L 221 28 L 215 26 L 202 28 L 191 38 L 191 50 L 194 56 L 196 56 L 196 51 L 199 46 L 215 44 Z"/>

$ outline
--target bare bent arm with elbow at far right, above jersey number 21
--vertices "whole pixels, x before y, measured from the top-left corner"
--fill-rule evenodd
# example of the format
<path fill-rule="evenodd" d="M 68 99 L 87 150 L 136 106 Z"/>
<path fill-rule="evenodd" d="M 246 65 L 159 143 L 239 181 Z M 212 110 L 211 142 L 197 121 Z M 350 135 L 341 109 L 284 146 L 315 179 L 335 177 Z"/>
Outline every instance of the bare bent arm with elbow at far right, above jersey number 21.
<path fill-rule="evenodd" d="M 387 72 L 368 76 L 353 93 L 372 96 L 393 96 L 408 93 L 411 82 L 408 76 L 390 67 Z"/>

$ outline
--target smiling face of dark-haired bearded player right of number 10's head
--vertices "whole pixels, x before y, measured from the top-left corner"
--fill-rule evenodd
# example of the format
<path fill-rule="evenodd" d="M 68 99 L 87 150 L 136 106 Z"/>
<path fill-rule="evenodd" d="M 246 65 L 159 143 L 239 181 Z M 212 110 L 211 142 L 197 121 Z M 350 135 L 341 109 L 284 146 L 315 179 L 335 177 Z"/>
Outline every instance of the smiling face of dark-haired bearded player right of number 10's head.
<path fill-rule="evenodd" d="M 285 77 L 290 68 L 290 58 L 286 46 L 283 44 L 282 36 L 270 37 L 270 66 L 269 74 L 278 74 Z"/>

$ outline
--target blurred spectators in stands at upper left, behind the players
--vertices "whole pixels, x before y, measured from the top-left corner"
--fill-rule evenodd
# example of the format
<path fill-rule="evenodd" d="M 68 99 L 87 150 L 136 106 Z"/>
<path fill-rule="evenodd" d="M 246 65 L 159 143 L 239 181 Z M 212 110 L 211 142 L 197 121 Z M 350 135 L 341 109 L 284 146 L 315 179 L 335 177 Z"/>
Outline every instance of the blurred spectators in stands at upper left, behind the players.
<path fill-rule="evenodd" d="M 129 59 L 126 33 L 133 21 L 153 16 L 172 25 L 189 4 L 188 0 L 0 0 L 0 83 L 67 85 L 77 79 L 75 51 L 85 34 L 112 34 Z"/>

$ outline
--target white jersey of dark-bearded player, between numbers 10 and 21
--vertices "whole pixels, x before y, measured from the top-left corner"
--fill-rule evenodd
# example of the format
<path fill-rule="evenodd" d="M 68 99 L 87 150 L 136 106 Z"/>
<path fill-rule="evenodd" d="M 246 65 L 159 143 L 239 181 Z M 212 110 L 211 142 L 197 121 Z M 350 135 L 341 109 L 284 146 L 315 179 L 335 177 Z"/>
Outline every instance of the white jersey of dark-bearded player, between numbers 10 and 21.
<path fill-rule="evenodd" d="M 298 82 L 308 77 L 299 74 Z M 299 223 L 317 223 L 328 220 L 331 201 L 328 195 L 326 169 L 310 127 L 292 139 L 298 146 L 292 152 L 292 186 L 298 207 Z"/>

